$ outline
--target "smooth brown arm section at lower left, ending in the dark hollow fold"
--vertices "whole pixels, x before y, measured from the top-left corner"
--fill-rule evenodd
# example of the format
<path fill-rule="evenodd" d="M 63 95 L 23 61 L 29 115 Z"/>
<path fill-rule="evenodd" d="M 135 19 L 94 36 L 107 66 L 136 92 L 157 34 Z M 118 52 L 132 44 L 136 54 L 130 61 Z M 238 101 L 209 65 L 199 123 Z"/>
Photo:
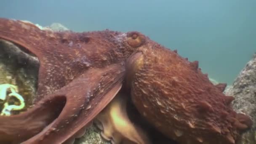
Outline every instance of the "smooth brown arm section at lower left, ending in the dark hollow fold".
<path fill-rule="evenodd" d="M 64 102 L 64 97 L 56 96 L 19 115 L 0 117 L 0 143 L 16 144 L 36 135 L 58 117 Z"/>

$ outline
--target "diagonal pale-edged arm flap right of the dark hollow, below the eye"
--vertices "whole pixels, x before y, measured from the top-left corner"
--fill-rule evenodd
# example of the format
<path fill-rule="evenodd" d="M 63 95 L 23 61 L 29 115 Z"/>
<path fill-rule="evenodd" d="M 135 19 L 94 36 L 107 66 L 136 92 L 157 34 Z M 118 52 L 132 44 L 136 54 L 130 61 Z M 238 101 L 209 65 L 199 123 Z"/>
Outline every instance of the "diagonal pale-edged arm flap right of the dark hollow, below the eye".
<path fill-rule="evenodd" d="M 104 69 L 90 69 L 60 91 L 48 96 L 65 96 L 67 102 L 58 118 L 22 144 L 59 144 L 76 134 L 90 123 L 120 90 L 124 76 L 122 67 L 120 64 L 114 64 Z"/>

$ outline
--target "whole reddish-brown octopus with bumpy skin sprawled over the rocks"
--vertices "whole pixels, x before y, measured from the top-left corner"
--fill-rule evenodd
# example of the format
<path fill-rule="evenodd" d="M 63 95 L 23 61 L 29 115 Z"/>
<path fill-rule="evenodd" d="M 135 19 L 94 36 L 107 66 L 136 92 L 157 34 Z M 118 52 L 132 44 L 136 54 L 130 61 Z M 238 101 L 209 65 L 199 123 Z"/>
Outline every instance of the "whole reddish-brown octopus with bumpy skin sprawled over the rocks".
<path fill-rule="evenodd" d="M 232 109 L 234 98 L 223 94 L 226 84 L 213 85 L 198 61 L 140 32 L 53 32 L 1 18 L 0 39 L 40 63 L 32 106 L 0 116 L 1 144 L 72 143 L 94 118 L 103 137 L 114 143 L 122 136 L 150 143 L 128 120 L 125 97 L 180 144 L 235 144 L 252 125 L 248 115 Z"/>

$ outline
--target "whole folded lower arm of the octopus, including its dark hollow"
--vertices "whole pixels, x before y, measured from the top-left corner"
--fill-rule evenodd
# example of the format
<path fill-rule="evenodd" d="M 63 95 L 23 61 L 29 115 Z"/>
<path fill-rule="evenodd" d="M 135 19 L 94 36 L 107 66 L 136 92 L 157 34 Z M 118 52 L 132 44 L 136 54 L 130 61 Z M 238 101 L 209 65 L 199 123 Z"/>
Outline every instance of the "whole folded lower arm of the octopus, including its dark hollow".
<path fill-rule="evenodd" d="M 21 144 L 61 144 L 75 139 L 115 97 L 123 79 L 121 64 L 91 68 L 59 91 L 45 96 L 27 112 L 0 117 L 0 122 L 4 122 L 0 123 L 0 140 L 13 142 L 15 138 L 15 142 L 24 141 Z"/>

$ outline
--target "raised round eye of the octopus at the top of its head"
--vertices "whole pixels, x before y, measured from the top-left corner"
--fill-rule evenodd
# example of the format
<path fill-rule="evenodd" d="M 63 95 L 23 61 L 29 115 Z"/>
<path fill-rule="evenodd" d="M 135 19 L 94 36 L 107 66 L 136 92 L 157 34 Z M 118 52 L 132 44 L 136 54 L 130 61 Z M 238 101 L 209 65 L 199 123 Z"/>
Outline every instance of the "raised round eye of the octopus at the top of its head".
<path fill-rule="evenodd" d="M 127 33 L 127 43 L 133 47 L 137 48 L 145 43 L 145 36 L 139 32 L 128 32 Z"/>

